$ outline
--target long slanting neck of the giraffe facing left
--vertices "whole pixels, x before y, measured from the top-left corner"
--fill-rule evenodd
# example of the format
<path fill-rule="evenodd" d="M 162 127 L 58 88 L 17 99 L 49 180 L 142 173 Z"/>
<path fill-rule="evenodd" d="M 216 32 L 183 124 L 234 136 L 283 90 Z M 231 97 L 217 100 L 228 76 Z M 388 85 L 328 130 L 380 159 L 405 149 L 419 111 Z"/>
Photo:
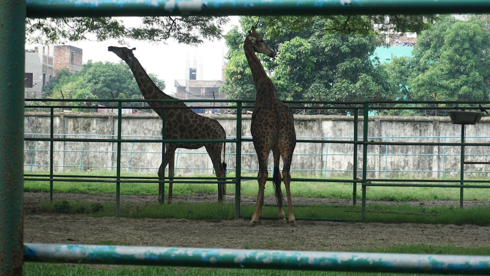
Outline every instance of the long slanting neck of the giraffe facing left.
<path fill-rule="evenodd" d="M 165 100 L 165 99 L 174 99 L 173 97 L 163 93 L 158 86 L 151 80 L 143 66 L 141 66 L 138 59 L 134 56 L 129 57 L 125 60 L 131 72 L 133 72 L 134 78 L 136 79 L 136 83 L 141 90 L 141 94 L 146 100 Z M 162 117 L 162 103 L 159 102 L 148 102 L 148 105 L 155 110 L 155 112 Z M 160 108 L 156 108 L 160 107 Z"/>

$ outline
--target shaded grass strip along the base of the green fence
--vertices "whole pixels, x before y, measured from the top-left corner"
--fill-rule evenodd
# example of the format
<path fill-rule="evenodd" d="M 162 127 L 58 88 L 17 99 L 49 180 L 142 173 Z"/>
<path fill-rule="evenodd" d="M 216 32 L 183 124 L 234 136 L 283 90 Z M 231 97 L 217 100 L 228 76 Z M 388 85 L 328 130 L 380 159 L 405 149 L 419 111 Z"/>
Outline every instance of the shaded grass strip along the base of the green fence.
<path fill-rule="evenodd" d="M 241 215 L 251 217 L 255 206 L 242 205 Z M 53 213 L 70 213 L 93 217 L 115 216 L 115 202 L 93 203 L 88 201 L 41 202 L 36 210 Z M 352 220 L 361 221 L 360 205 L 310 205 L 295 206 L 297 220 Z M 263 208 L 265 219 L 277 218 L 277 206 L 266 205 Z M 454 225 L 490 225 L 490 206 L 476 206 L 461 209 L 459 207 L 425 207 L 409 204 L 368 204 L 366 222 L 377 223 L 418 223 L 418 224 L 454 224 Z M 232 203 L 177 203 L 134 206 L 121 204 L 120 216 L 128 218 L 187 219 L 187 220 L 232 220 L 235 218 L 235 205 Z"/>

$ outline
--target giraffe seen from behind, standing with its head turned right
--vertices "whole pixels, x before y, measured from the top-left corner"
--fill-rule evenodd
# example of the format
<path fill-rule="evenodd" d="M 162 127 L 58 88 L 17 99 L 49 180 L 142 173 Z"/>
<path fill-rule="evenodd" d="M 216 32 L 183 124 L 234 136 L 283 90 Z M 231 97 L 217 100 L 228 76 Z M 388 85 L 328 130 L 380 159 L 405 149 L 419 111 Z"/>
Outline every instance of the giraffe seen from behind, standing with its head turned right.
<path fill-rule="evenodd" d="M 252 71 L 253 82 L 257 89 L 250 132 L 252 133 L 253 146 L 259 161 L 259 173 L 257 175 L 259 193 L 250 226 L 255 226 L 262 219 L 262 201 L 268 177 L 267 160 L 271 150 L 274 157 L 273 182 L 275 197 L 279 205 L 279 221 L 285 223 L 285 214 L 282 208 L 281 175 L 279 174 L 279 158 L 281 157 L 283 161 L 282 178 L 288 198 L 288 221 L 291 226 L 296 226 L 290 191 L 291 175 L 289 173 L 293 151 L 296 146 L 293 113 L 287 105 L 279 100 L 274 84 L 254 53 L 265 53 L 270 57 L 274 57 L 274 53 L 264 43 L 264 39 L 255 32 L 254 27 L 245 38 L 244 50 L 248 65 Z"/>

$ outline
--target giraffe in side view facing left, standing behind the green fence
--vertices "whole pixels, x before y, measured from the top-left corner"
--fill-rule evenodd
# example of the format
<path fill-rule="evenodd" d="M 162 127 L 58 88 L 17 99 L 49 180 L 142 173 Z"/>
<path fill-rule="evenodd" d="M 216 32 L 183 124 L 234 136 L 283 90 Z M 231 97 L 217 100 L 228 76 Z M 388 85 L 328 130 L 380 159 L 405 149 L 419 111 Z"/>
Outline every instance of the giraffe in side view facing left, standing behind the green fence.
<path fill-rule="evenodd" d="M 143 66 L 141 66 L 138 59 L 133 54 L 133 50 L 136 48 L 128 49 L 125 47 L 109 47 L 109 51 L 115 53 L 133 72 L 133 75 L 138 83 L 138 86 L 143 94 L 143 97 L 147 100 L 166 100 L 175 98 L 163 93 L 151 78 L 146 73 Z M 148 102 L 153 110 L 163 120 L 163 109 L 166 111 L 165 116 L 165 138 L 172 140 L 223 140 L 226 139 L 226 132 L 223 126 L 217 120 L 200 116 L 192 111 L 185 103 L 181 101 L 175 102 Z M 165 144 L 165 158 L 164 163 L 160 165 L 158 169 L 158 176 L 165 176 L 165 167 L 169 165 L 169 203 L 172 202 L 172 180 L 174 176 L 174 162 L 175 162 L 175 150 L 177 148 L 183 149 L 199 149 L 205 147 L 206 151 L 211 157 L 213 167 L 215 169 L 216 176 L 218 178 L 225 176 L 226 163 L 221 163 L 221 151 L 223 151 L 224 160 L 224 143 L 223 142 L 192 142 L 192 143 L 166 143 Z M 162 203 L 162 186 L 158 185 L 158 201 Z M 225 194 L 225 184 L 218 184 L 218 201 L 223 202 L 223 196 Z"/>

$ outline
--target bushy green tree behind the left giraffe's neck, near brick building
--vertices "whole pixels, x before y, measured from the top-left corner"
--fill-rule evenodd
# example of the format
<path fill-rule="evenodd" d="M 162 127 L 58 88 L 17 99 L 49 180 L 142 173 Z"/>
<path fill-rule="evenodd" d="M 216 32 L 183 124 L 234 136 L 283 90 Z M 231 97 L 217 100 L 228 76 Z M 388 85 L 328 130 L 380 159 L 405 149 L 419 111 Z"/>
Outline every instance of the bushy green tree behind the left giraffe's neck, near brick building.
<path fill-rule="evenodd" d="M 148 74 L 162 90 L 165 82 Z M 89 60 L 79 72 L 59 71 L 45 86 L 43 96 L 47 99 L 142 99 L 138 84 L 129 67 L 123 62 L 92 62 Z M 109 102 L 101 102 L 107 105 Z"/>

